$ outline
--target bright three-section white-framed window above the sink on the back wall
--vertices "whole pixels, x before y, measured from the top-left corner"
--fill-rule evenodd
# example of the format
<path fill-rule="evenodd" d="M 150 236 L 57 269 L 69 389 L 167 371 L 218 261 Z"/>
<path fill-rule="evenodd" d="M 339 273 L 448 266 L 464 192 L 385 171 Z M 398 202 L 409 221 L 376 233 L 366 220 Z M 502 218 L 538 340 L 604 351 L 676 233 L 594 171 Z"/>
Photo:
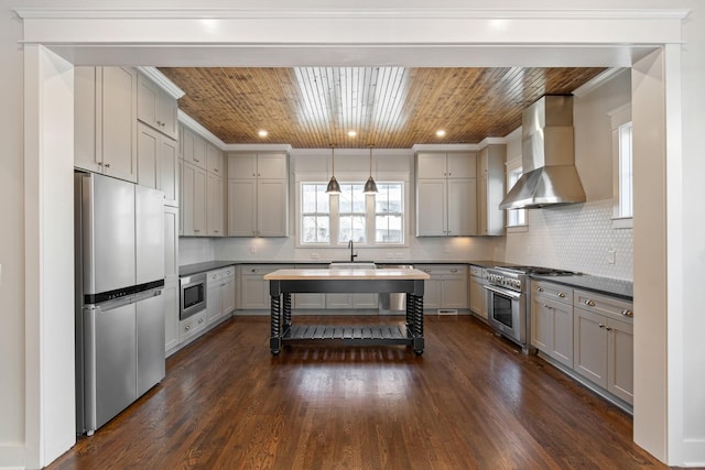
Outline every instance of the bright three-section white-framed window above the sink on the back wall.
<path fill-rule="evenodd" d="M 301 183 L 303 245 L 338 247 L 404 243 L 404 185 L 377 183 L 379 193 L 365 195 L 364 183 L 340 183 L 340 195 L 326 194 L 325 183 Z"/>

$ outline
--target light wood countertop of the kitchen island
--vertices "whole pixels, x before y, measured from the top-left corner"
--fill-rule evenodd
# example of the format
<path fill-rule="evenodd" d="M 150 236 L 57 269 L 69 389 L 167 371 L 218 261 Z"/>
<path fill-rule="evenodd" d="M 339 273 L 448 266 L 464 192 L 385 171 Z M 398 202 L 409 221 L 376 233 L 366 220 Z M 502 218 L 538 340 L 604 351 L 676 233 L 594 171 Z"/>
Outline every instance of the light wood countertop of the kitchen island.
<path fill-rule="evenodd" d="M 265 274 L 265 281 L 326 281 L 326 280 L 429 280 L 429 273 L 420 270 L 376 270 L 376 269 L 335 269 L 335 270 L 278 270 Z"/>

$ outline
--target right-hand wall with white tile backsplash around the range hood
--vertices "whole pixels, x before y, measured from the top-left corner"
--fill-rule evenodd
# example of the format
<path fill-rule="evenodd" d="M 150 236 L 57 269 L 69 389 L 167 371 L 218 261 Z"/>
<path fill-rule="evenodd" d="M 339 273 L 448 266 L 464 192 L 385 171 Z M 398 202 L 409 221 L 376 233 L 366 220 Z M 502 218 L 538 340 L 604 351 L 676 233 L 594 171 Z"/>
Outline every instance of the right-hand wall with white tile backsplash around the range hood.
<path fill-rule="evenodd" d="M 614 229 L 612 141 L 609 112 L 631 101 L 631 77 L 620 73 L 574 98 L 575 166 L 585 204 L 527 211 L 527 231 L 510 232 L 496 256 L 507 262 L 545 265 L 605 277 L 633 278 L 633 232 Z M 507 159 L 521 155 L 521 133 L 512 132 Z M 615 252 L 615 263 L 608 261 Z"/>

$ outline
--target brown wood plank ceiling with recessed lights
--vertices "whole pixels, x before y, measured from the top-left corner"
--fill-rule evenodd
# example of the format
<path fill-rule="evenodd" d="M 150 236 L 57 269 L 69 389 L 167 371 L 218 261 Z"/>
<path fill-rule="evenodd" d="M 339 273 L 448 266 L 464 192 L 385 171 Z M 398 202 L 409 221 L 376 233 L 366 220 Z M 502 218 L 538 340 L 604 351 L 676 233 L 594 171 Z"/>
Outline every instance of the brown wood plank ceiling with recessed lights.
<path fill-rule="evenodd" d="M 225 143 L 409 149 L 505 136 L 521 125 L 528 105 L 543 95 L 571 94 L 604 68 L 160 70 L 185 91 L 178 107 Z M 259 136 L 260 130 L 268 135 Z"/>

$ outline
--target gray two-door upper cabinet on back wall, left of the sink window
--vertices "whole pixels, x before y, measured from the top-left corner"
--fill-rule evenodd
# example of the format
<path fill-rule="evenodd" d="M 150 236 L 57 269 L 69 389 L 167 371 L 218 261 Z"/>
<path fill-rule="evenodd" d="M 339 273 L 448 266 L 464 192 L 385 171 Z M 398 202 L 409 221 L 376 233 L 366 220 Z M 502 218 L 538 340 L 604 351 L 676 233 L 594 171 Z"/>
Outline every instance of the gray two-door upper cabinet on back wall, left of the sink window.
<path fill-rule="evenodd" d="M 289 236 L 285 153 L 230 153 L 227 225 L 230 237 Z"/>

